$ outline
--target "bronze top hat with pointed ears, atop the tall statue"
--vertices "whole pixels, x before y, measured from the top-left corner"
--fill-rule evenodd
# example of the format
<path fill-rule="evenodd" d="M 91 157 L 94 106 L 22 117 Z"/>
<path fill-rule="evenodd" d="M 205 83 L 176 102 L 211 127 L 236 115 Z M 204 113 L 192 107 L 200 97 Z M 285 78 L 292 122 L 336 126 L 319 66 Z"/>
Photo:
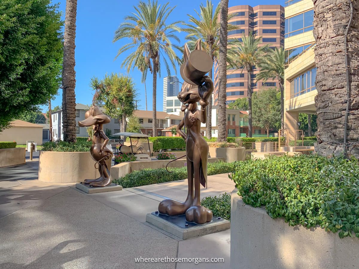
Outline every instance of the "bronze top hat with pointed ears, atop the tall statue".
<path fill-rule="evenodd" d="M 180 68 L 182 79 L 191 85 L 201 85 L 202 77 L 206 75 L 213 66 L 213 61 L 209 54 L 202 51 L 201 39 L 198 39 L 196 48 L 192 52 L 190 52 L 186 43 L 183 56 L 184 63 Z"/>

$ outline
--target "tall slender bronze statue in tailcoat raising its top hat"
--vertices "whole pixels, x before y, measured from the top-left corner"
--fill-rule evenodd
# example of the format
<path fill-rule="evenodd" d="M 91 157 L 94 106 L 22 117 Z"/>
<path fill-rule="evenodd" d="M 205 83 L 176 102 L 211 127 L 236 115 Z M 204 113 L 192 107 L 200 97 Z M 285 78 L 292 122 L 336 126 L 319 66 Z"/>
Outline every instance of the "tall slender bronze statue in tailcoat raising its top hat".
<path fill-rule="evenodd" d="M 213 61 L 201 50 L 201 41 L 190 52 L 187 44 L 184 49 L 184 63 L 181 76 L 185 81 L 177 98 L 183 103 L 185 116 L 177 126 L 177 133 L 186 141 L 188 195 L 183 203 L 166 199 L 159 206 L 161 214 L 176 216 L 186 214 L 188 222 L 204 224 L 213 218 L 212 212 L 201 206 L 200 184 L 207 187 L 208 144 L 201 135 L 201 123 L 207 120 L 206 107 L 213 92 L 213 81 L 205 74 L 211 70 Z M 198 107 L 197 102 L 201 105 Z M 187 135 L 182 127 L 187 127 Z"/>

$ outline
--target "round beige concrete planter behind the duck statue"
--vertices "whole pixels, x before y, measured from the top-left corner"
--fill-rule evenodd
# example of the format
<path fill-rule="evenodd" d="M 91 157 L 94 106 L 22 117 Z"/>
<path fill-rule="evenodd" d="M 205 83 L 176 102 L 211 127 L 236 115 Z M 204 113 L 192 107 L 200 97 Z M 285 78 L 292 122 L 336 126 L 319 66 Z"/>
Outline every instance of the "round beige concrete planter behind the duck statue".
<path fill-rule="evenodd" d="M 51 183 L 76 183 L 98 178 L 90 152 L 40 151 L 39 180 Z M 107 160 L 110 169 L 111 160 Z"/>

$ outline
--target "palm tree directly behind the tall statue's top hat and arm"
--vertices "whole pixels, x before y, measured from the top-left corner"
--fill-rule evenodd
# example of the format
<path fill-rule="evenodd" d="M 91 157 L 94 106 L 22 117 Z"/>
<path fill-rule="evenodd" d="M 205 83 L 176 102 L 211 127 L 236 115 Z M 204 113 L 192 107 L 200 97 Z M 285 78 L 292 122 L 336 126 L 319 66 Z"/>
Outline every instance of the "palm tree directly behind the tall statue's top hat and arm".
<path fill-rule="evenodd" d="M 187 27 L 184 30 L 188 33 L 186 39 L 190 40 L 190 42 L 188 42 L 190 47 L 194 47 L 196 41 L 198 39 L 201 39 L 202 49 L 208 52 L 209 56 L 212 58 L 212 61 L 214 61 L 214 58 L 218 59 L 219 52 L 219 11 L 220 3 L 214 10 L 212 2 L 210 0 L 207 0 L 206 6 L 204 6 L 203 4 L 200 5 L 200 13 L 195 10 L 198 19 L 192 15 L 187 14 L 187 16 L 190 18 L 190 22 L 184 24 Z M 229 19 L 233 16 L 234 14 L 230 15 Z M 228 24 L 227 27 L 228 30 L 238 29 L 236 25 L 232 24 Z M 230 59 L 228 60 L 232 61 Z M 212 79 L 212 70 L 209 71 L 208 75 Z M 208 100 L 208 102 L 209 104 L 207 107 L 206 136 L 210 139 L 212 137 L 212 97 Z"/>

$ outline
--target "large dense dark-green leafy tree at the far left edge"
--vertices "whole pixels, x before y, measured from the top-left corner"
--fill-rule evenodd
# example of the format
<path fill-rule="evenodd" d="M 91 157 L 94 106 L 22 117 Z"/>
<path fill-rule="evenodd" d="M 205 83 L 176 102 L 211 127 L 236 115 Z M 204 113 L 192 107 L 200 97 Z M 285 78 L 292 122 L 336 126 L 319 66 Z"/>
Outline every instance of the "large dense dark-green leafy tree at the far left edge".
<path fill-rule="evenodd" d="M 63 55 L 58 6 L 0 1 L 0 132 L 57 94 Z"/>

